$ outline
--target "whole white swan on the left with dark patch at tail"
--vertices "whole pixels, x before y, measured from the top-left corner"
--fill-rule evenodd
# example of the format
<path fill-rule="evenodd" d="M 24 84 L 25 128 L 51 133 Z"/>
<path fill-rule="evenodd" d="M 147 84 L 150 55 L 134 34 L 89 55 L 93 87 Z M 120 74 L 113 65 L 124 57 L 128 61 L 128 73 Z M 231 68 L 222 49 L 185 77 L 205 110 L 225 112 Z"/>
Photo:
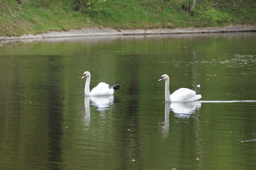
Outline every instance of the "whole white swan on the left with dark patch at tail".
<path fill-rule="evenodd" d="M 87 81 L 84 86 L 84 95 L 85 96 L 110 96 L 113 95 L 113 91 L 117 91 L 120 88 L 120 85 L 109 86 L 104 82 L 100 82 L 94 89 L 90 91 L 90 81 L 91 74 L 90 72 L 84 72 L 81 79 L 87 77 Z"/>

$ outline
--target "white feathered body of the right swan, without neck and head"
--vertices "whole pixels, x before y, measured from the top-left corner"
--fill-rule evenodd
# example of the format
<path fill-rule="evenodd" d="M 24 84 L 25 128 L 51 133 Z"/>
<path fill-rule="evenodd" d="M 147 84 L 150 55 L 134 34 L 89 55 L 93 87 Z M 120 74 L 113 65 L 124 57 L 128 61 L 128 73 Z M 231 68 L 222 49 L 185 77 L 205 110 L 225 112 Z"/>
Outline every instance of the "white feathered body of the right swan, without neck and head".
<path fill-rule="evenodd" d="M 190 102 L 197 101 L 201 98 L 200 94 L 196 95 L 196 91 L 187 88 L 177 89 L 170 96 L 172 102 Z"/>

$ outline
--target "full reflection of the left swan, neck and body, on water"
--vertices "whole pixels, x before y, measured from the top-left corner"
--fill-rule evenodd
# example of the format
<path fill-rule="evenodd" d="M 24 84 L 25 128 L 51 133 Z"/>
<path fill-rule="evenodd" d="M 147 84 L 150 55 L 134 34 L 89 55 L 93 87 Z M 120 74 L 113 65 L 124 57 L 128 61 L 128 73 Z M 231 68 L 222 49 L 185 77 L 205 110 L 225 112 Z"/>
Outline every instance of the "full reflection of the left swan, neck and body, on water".
<path fill-rule="evenodd" d="M 91 121 L 91 106 L 95 106 L 97 111 L 104 112 L 113 105 L 113 96 L 85 96 L 84 97 L 84 122 L 89 125 Z"/>

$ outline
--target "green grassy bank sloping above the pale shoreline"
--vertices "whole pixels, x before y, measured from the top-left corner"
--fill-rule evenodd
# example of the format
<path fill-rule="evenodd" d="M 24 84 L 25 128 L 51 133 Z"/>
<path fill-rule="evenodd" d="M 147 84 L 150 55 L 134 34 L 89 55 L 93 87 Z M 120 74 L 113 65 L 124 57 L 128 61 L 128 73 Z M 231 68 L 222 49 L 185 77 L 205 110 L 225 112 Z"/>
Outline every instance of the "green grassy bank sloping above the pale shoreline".
<path fill-rule="evenodd" d="M 0 0 L 0 35 L 256 23 L 255 0 L 197 0 L 191 8 L 192 0 Z"/>

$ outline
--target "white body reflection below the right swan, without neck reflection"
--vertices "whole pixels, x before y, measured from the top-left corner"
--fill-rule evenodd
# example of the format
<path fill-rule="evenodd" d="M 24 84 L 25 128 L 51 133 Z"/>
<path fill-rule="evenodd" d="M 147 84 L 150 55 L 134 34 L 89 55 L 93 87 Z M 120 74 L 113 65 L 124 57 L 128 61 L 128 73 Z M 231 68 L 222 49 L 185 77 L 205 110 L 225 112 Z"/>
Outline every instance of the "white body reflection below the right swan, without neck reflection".
<path fill-rule="evenodd" d="M 199 108 L 201 108 L 201 103 L 199 102 L 171 103 L 170 105 L 171 111 L 177 118 L 189 118 Z"/>

